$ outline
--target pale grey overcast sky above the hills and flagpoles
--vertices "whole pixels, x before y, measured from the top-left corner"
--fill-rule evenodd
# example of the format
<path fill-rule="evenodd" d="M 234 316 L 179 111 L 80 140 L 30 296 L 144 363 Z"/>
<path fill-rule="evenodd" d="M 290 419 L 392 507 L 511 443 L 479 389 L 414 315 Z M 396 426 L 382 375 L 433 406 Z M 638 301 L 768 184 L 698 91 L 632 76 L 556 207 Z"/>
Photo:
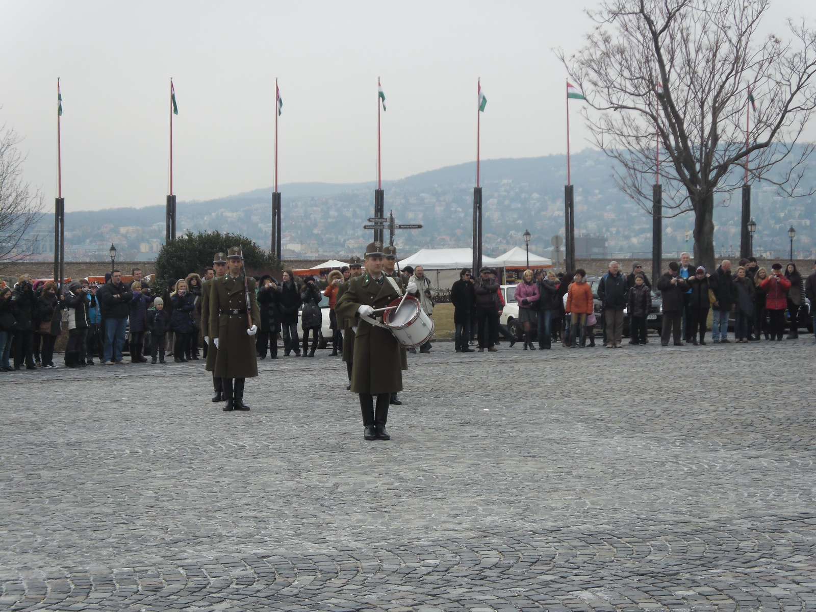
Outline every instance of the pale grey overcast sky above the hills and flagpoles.
<path fill-rule="evenodd" d="M 384 180 L 475 159 L 479 77 L 483 158 L 564 153 L 552 49 L 579 48 L 594 4 L 0 0 L 0 125 L 24 137 L 25 178 L 51 200 L 61 78 L 69 211 L 164 202 L 171 77 L 180 200 L 273 184 L 275 77 L 282 184 L 375 179 L 378 76 Z M 775 0 L 765 27 L 787 16 L 813 20 L 816 2 Z"/>

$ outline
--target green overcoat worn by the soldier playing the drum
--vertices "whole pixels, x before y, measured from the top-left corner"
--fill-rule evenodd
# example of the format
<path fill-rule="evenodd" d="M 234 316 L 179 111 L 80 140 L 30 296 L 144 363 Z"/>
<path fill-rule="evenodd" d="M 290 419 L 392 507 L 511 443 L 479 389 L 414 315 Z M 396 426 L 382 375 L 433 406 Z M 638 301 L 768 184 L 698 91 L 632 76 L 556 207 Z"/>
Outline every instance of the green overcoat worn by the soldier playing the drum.
<path fill-rule="evenodd" d="M 357 326 L 352 367 L 354 393 L 379 395 L 402 390 L 400 344 L 389 330 L 372 326 L 357 315 L 357 308 L 363 304 L 385 308 L 397 299 L 397 291 L 391 283 L 384 276 L 381 278 L 382 284 L 368 274 L 354 278 L 335 305 L 335 312 Z"/>

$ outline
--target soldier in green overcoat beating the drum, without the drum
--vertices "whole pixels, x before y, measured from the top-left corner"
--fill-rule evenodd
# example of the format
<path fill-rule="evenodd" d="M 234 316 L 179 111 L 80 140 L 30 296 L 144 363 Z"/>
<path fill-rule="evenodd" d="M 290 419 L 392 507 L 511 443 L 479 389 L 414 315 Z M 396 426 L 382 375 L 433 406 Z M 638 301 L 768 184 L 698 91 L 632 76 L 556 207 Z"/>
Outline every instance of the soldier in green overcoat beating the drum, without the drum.
<path fill-rule="evenodd" d="M 348 290 L 335 305 L 335 311 L 351 319 L 357 328 L 351 390 L 360 396 L 366 440 L 391 439 L 385 429 L 388 401 L 391 393 L 402 390 L 400 344 L 390 330 L 366 321 L 374 318 L 375 309 L 385 308 L 398 297 L 383 273 L 383 255 L 382 242 L 366 247 L 366 272 L 349 281 Z M 410 284 L 406 289 L 411 289 Z"/>

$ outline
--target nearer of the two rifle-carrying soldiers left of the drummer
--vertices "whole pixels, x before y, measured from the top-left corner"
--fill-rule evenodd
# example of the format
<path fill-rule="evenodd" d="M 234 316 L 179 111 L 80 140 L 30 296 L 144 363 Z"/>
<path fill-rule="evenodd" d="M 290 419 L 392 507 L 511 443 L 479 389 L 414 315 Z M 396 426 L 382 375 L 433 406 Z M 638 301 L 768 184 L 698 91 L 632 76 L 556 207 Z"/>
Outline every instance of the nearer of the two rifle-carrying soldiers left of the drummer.
<path fill-rule="evenodd" d="M 231 247 L 227 260 L 226 276 L 212 280 L 209 326 L 218 349 L 214 374 L 223 379 L 225 412 L 250 409 L 243 401 L 244 380 L 258 375 L 258 356 L 252 336 L 260 325 L 255 279 L 242 273 L 241 247 Z"/>

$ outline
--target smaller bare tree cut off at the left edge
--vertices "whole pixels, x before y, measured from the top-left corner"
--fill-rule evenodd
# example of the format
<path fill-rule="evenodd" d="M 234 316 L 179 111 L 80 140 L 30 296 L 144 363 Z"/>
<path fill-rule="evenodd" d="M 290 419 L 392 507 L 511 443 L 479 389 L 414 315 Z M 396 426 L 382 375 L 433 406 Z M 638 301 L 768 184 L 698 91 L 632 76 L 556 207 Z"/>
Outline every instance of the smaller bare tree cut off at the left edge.
<path fill-rule="evenodd" d="M 31 230 L 42 216 L 42 193 L 23 183 L 24 157 L 16 133 L 0 127 L 0 269 L 31 255 L 37 235 Z"/>

